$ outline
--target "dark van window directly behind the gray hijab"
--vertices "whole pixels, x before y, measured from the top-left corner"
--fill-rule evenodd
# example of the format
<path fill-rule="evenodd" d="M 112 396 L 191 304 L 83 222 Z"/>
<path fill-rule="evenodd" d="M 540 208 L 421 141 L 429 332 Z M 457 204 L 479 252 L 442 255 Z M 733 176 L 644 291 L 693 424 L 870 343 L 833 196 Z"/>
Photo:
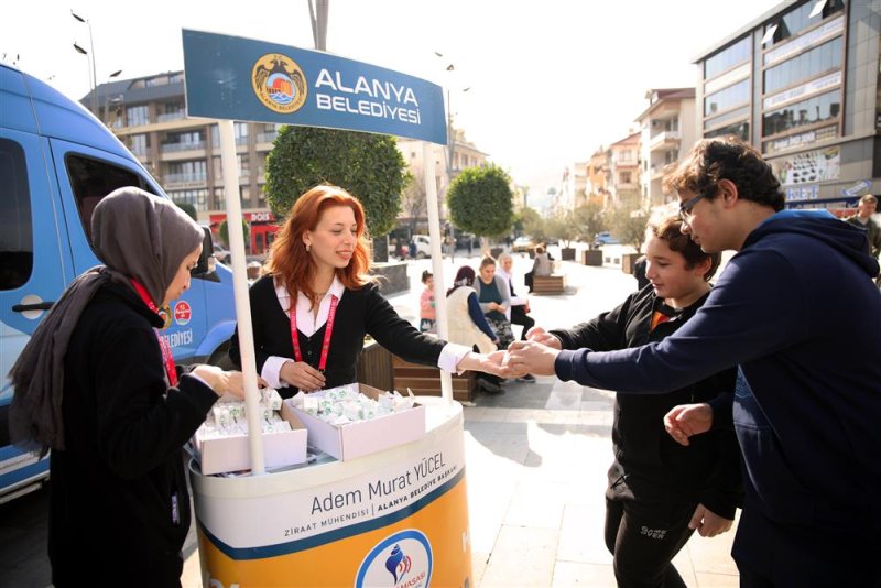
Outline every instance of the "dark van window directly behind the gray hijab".
<path fill-rule="evenodd" d="M 73 154 L 67 155 L 66 163 L 79 220 L 83 222 L 89 243 L 91 243 L 91 213 L 101 198 L 126 186 L 135 186 L 155 194 L 140 175 L 112 163 Z"/>

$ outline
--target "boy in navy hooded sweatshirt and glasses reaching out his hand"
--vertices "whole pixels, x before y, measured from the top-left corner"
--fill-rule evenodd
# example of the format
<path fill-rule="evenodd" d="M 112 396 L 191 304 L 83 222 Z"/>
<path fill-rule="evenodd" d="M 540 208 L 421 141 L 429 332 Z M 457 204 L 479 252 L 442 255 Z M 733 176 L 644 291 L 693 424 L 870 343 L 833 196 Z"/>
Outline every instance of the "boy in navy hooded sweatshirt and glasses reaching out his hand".
<path fill-rule="evenodd" d="M 736 139 L 699 141 L 665 184 L 683 232 L 706 252 L 738 251 L 704 306 L 632 349 L 515 342 L 511 374 L 662 393 L 737 364 L 741 586 L 881 587 L 881 296 L 864 232 L 825 210 L 784 211 L 771 166 Z M 665 417 L 683 444 L 711 423 L 707 404 Z"/>

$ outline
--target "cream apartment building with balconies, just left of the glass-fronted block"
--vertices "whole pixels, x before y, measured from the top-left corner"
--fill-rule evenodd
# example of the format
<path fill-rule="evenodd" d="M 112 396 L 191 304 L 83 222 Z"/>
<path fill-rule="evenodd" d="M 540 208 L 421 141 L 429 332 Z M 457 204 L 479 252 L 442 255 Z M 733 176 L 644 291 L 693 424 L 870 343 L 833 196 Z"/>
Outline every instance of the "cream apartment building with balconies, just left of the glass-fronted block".
<path fill-rule="evenodd" d="M 667 166 L 679 161 L 697 140 L 694 88 L 651 89 L 649 107 L 637 118 L 640 126 L 640 193 L 642 208 L 664 205 L 675 194 L 664 194 Z"/>

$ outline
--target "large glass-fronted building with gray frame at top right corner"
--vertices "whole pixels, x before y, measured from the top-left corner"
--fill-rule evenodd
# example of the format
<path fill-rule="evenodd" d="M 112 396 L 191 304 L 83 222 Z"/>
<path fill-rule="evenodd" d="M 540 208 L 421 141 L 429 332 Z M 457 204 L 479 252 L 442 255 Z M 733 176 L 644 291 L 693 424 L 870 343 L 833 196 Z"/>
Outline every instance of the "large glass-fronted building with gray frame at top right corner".
<path fill-rule="evenodd" d="M 881 194 L 880 29 L 878 2 L 781 2 L 698 56 L 701 134 L 752 143 L 791 208 Z"/>

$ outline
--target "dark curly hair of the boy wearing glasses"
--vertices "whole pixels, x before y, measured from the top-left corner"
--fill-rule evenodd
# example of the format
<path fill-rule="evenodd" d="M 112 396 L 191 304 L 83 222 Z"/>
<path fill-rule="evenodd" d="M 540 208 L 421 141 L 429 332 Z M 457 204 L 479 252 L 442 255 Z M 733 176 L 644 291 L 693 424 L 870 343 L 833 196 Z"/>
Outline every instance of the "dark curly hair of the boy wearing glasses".
<path fill-rule="evenodd" d="M 718 196 L 720 179 L 732 182 L 743 200 L 783 210 L 783 192 L 773 170 L 758 151 L 737 137 L 695 143 L 688 159 L 664 177 L 664 189 L 688 189 L 713 200 Z"/>

